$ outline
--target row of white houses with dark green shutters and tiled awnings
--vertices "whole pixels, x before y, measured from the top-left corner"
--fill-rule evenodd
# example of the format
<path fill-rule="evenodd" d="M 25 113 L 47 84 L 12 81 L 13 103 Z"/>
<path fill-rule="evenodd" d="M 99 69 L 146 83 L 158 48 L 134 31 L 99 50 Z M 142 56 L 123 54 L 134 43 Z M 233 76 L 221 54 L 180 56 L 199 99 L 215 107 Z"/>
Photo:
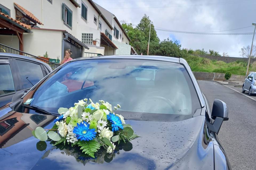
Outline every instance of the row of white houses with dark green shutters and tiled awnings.
<path fill-rule="evenodd" d="M 91 0 L 2 0 L 0 43 L 36 56 L 47 51 L 53 59 L 66 49 L 72 58 L 128 54 L 128 48 L 130 54 L 121 24 L 102 11 Z"/>

